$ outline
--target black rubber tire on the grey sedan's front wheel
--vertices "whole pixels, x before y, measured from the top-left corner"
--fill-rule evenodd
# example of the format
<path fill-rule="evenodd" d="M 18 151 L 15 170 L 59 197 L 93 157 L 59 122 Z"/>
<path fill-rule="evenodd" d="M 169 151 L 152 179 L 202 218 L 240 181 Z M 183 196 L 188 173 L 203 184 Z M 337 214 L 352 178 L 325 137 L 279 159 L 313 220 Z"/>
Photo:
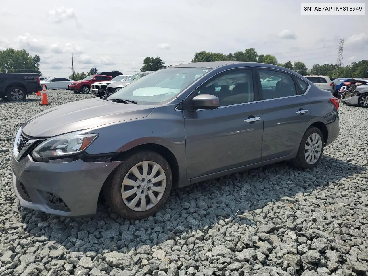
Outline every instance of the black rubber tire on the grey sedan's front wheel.
<path fill-rule="evenodd" d="M 147 178 L 155 179 L 160 177 L 160 175 L 163 175 L 163 177 L 166 178 L 156 182 L 157 184 L 153 184 L 152 182 L 148 183 L 150 181 L 149 179 L 148 181 L 145 179 L 143 183 L 142 181 L 139 181 L 137 177 L 131 173 L 131 170 L 135 168 L 137 169 L 138 173 L 141 174 L 141 172 L 143 172 L 143 167 L 139 165 L 139 163 L 143 162 L 148 164 L 147 175 L 152 172 L 152 165 L 159 166 L 156 174 L 153 175 L 153 177 L 156 177 Z M 124 179 L 127 179 L 128 177 L 130 179 L 128 179 L 128 181 L 124 181 Z M 127 219 L 139 220 L 152 216 L 162 208 L 170 195 L 172 181 L 173 177 L 170 165 L 166 159 L 163 158 L 163 156 L 154 151 L 140 150 L 132 153 L 120 166 L 117 167 L 115 173 L 109 177 L 109 180 L 105 184 L 103 194 L 105 195 L 107 204 L 114 212 Z M 124 185 L 124 182 L 133 185 Z M 152 190 L 151 187 L 156 188 L 155 190 Z M 135 191 L 130 192 L 129 194 L 131 195 L 123 199 L 123 192 L 126 193 L 132 190 Z M 160 192 L 157 192 L 156 190 L 160 190 Z M 145 196 L 143 197 L 143 195 Z M 152 195 L 154 198 L 156 198 L 157 202 L 153 202 L 151 200 Z M 144 204 L 142 204 L 142 198 L 145 199 L 146 209 L 143 207 Z M 129 203 L 132 204 L 131 207 L 128 206 Z"/>

